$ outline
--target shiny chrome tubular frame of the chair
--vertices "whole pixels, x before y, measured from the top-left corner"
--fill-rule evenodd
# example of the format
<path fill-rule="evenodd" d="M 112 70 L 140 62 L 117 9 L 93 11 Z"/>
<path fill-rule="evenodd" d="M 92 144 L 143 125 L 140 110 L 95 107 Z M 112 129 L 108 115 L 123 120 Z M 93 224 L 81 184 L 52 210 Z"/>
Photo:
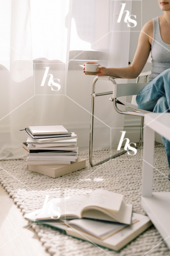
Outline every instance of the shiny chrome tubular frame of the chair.
<path fill-rule="evenodd" d="M 150 74 L 150 71 L 147 72 L 147 73 L 142 73 L 138 76 L 137 80 L 136 80 L 136 83 L 139 83 L 139 77 L 140 76 L 144 76 L 144 85 L 147 84 L 147 76 Z M 113 91 L 109 91 L 109 92 L 104 92 L 104 93 L 95 93 L 95 85 L 96 85 L 96 81 L 98 80 L 99 78 L 96 77 L 93 81 L 93 86 L 92 86 L 92 93 L 91 93 L 91 96 L 92 96 L 92 100 L 91 100 L 91 123 L 90 123 L 90 146 L 89 146 L 89 163 L 91 166 L 98 166 L 99 164 L 102 164 L 102 163 L 105 163 L 115 157 L 118 157 L 122 154 L 125 154 L 127 152 L 127 150 L 124 150 L 124 151 L 121 151 L 117 154 L 114 154 L 112 155 L 111 157 L 108 157 L 108 158 L 105 158 L 104 160 L 101 160 L 99 161 L 98 163 L 95 163 L 93 164 L 93 132 L 94 132 L 94 99 L 95 97 L 98 97 L 98 96 L 103 96 L 103 95 L 109 95 L 109 94 L 113 94 Z M 112 81 L 113 84 L 116 84 L 116 81 L 115 81 L 116 78 L 113 78 L 113 77 L 109 77 L 108 80 Z M 126 84 L 127 86 L 129 84 Z M 134 84 L 133 84 L 134 85 Z M 135 94 L 134 94 L 135 95 Z M 139 144 L 135 147 L 135 148 L 139 148 L 141 145 L 142 145 L 142 137 L 143 137 L 143 123 L 144 123 L 144 113 L 140 112 L 140 111 L 137 111 L 135 109 L 133 109 L 134 112 L 130 112 L 130 111 L 121 111 L 119 110 L 119 108 L 117 107 L 117 104 L 121 104 L 121 105 L 124 105 L 122 102 L 119 102 L 118 99 L 116 98 L 110 98 L 111 102 L 113 102 L 113 106 L 115 108 L 115 110 L 120 113 L 120 114 L 124 114 L 124 115 L 133 115 L 133 116 L 141 116 L 142 119 L 141 119 L 141 127 L 140 127 L 140 139 L 139 139 Z M 125 105 L 126 106 L 126 105 Z"/>

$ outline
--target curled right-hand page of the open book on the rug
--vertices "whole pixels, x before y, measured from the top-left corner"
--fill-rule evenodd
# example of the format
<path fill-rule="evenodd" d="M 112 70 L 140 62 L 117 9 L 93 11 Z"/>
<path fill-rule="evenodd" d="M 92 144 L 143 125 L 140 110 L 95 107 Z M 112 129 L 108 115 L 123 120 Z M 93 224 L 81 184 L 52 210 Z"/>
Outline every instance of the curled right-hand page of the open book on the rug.
<path fill-rule="evenodd" d="M 84 209 L 85 207 L 91 207 L 91 209 L 93 209 L 92 207 L 96 206 L 118 212 L 121 207 L 122 200 L 123 195 L 104 189 L 96 189 L 89 196 L 87 204 L 85 204 L 84 206 Z"/>

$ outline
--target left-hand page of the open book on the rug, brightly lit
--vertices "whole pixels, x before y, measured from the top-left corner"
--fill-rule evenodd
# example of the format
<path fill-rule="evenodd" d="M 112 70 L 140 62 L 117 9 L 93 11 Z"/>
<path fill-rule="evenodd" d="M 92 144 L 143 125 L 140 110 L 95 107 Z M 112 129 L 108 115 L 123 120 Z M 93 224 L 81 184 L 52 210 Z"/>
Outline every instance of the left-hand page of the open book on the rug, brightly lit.
<path fill-rule="evenodd" d="M 87 201 L 85 195 L 74 195 L 66 198 L 54 198 L 43 206 L 40 213 L 37 214 L 38 219 L 57 219 L 65 218 L 65 216 L 77 216 L 81 218 L 81 210 Z"/>

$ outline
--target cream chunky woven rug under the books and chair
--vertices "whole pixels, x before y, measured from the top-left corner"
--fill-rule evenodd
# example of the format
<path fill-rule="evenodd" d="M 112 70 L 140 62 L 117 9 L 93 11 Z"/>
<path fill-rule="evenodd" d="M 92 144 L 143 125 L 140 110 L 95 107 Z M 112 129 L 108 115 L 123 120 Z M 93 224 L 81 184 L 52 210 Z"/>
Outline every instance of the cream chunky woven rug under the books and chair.
<path fill-rule="evenodd" d="M 116 153 L 115 150 L 94 152 L 94 160 L 99 161 Z M 142 151 L 138 149 L 135 156 L 127 153 L 100 166 L 90 167 L 88 152 L 79 153 L 87 159 L 85 169 L 51 178 L 26 169 L 26 160 L 1 160 L 0 182 L 13 198 L 23 214 L 42 207 L 45 195 L 49 199 L 68 195 L 88 195 L 94 189 L 107 189 L 124 195 L 124 201 L 133 204 L 133 211 L 145 214 L 141 205 L 142 190 Z M 153 190 L 170 192 L 170 181 L 167 179 L 169 168 L 163 146 L 155 147 Z M 150 227 L 147 231 L 130 242 L 116 253 L 64 235 L 57 229 L 42 224 L 32 224 L 43 246 L 54 256 L 170 256 L 161 236 Z"/>

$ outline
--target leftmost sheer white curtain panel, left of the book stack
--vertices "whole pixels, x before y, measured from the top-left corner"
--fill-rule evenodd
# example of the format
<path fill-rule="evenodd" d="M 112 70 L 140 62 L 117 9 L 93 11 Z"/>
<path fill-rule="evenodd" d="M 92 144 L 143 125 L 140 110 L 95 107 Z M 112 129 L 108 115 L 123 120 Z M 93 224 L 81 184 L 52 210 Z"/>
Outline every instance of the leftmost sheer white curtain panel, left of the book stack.
<path fill-rule="evenodd" d="M 0 159 L 15 159 L 34 113 L 30 1 L 1 0 L 0 23 Z"/>

